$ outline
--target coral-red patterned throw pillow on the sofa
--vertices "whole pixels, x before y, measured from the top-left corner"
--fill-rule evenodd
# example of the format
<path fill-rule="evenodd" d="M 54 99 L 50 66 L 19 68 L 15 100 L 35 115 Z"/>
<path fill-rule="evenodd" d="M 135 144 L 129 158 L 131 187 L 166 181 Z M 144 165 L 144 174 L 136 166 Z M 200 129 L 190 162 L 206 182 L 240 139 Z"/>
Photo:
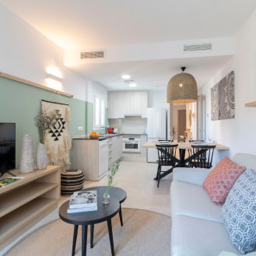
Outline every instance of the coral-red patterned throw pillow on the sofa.
<path fill-rule="evenodd" d="M 233 163 L 227 156 L 212 169 L 202 185 L 215 205 L 222 205 L 225 202 L 233 184 L 245 169 Z"/>

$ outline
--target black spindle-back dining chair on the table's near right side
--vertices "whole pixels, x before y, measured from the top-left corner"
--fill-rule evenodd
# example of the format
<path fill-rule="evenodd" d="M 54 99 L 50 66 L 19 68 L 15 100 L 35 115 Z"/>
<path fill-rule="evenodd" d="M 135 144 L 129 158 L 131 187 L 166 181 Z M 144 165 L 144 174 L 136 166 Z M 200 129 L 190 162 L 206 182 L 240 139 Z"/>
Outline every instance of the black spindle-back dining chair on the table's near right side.
<path fill-rule="evenodd" d="M 189 167 L 195 168 L 212 168 L 212 158 L 216 145 L 191 145 L 191 160 Z"/>

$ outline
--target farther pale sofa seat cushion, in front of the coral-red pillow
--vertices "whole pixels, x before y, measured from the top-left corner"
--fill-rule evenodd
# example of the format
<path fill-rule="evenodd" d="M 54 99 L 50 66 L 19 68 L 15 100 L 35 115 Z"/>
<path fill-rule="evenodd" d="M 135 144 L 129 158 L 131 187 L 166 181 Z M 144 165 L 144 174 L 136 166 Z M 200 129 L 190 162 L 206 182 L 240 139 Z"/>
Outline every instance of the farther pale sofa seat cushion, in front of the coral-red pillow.
<path fill-rule="evenodd" d="M 172 181 L 170 186 L 171 216 L 184 215 L 223 223 L 220 215 L 221 208 L 221 205 L 212 204 L 202 186 Z"/>

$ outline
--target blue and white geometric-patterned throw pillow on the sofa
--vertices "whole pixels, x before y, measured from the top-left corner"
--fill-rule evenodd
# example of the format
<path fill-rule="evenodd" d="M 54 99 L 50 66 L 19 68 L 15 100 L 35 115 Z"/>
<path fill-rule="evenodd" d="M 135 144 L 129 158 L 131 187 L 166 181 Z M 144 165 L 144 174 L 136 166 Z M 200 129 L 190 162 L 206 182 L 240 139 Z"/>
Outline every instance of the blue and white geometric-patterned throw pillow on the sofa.
<path fill-rule="evenodd" d="M 256 174 L 247 169 L 230 190 L 221 211 L 230 240 L 241 254 L 256 245 Z"/>

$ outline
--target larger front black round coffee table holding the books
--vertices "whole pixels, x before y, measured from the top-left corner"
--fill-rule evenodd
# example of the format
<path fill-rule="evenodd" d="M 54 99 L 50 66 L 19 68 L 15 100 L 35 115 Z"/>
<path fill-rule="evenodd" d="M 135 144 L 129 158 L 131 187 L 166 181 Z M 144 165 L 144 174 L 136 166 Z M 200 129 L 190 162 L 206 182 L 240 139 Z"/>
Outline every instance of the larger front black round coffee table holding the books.
<path fill-rule="evenodd" d="M 107 228 L 110 237 L 110 247 L 111 254 L 114 256 L 114 241 L 112 233 L 112 223 L 111 218 L 113 218 L 117 212 L 120 210 L 120 202 L 117 198 L 110 198 L 110 203 L 104 205 L 103 193 L 105 189 L 102 187 L 86 188 L 85 190 L 96 190 L 97 191 L 97 211 L 93 212 L 76 212 L 76 213 L 67 213 L 69 201 L 63 203 L 59 209 L 60 218 L 66 223 L 74 225 L 74 234 L 73 234 L 73 245 L 72 245 L 72 256 L 75 255 L 75 244 L 77 238 L 77 231 L 79 225 L 82 226 L 82 256 L 86 256 L 86 244 L 87 244 L 87 230 L 88 225 L 90 225 L 90 247 L 93 247 L 93 226 L 96 223 L 102 223 L 107 221 Z M 111 194 L 110 194 L 111 195 Z"/>

